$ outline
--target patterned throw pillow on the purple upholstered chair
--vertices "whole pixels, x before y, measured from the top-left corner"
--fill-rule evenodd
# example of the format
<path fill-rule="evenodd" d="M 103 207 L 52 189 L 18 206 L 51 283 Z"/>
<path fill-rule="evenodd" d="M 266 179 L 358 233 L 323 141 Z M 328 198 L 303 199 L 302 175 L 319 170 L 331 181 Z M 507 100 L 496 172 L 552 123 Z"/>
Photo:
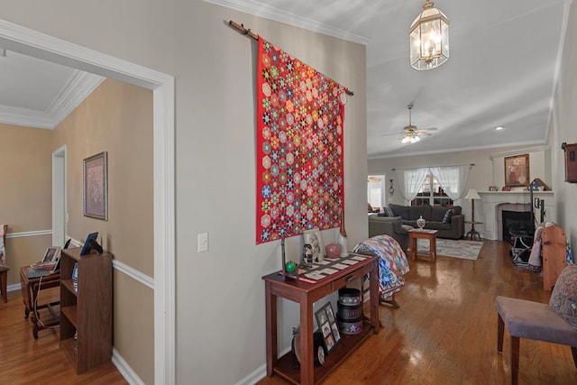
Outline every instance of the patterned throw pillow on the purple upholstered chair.
<path fill-rule="evenodd" d="M 577 329 L 577 266 L 567 265 L 555 282 L 549 306 Z"/>

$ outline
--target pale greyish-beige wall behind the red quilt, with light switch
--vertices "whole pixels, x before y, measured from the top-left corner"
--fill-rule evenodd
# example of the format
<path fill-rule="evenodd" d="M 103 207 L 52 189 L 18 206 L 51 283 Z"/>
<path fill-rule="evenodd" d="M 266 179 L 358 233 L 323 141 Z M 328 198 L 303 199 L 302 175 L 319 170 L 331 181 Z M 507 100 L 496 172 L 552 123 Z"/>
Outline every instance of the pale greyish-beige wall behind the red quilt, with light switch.
<path fill-rule="evenodd" d="M 365 47 L 201 1 L 103 0 L 80 5 L 56 0 L 49 5 L 13 0 L 3 3 L 0 18 L 175 76 L 177 381 L 231 384 L 262 371 L 261 276 L 279 270 L 279 242 L 254 242 L 256 46 L 224 21 L 250 26 L 354 91 L 344 126 L 345 217 L 351 244 L 367 236 Z M 86 147 L 86 153 L 74 154 L 75 162 L 102 150 Z M 74 216 L 75 234 L 83 237 L 92 226 Z M 106 231 L 112 234 L 111 228 Z M 209 234 L 208 252 L 197 252 L 200 233 Z M 335 234 L 325 231 L 325 243 Z M 116 248 L 117 234 L 109 238 L 117 258 L 131 258 Z M 301 237 L 290 238 L 288 253 L 298 258 L 301 246 Z M 138 268 L 148 271 L 148 266 Z M 132 286 L 115 283 L 123 289 Z M 125 299 L 125 308 L 136 311 L 134 322 L 151 321 L 152 315 L 142 316 L 139 310 L 136 301 L 141 298 L 132 299 L 133 304 Z M 116 314 L 114 319 L 116 326 Z M 132 333 L 124 321 L 114 335 Z M 283 307 L 281 349 L 289 347 L 286 336 L 296 323 L 297 312 Z M 151 347 L 139 343 L 121 352 L 131 357 L 129 363 L 146 383 L 152 383 L 150 370 L 143 369 L 151 365 L 149 351 Z"/>

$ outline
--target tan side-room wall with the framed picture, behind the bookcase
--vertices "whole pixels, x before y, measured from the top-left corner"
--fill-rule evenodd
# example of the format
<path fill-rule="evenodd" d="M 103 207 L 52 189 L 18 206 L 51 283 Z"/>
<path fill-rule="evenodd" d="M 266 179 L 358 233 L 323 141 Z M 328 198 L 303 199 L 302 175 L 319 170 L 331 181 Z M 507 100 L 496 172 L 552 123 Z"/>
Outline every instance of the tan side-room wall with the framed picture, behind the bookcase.
<path fill-rule="evenodd" d="M 153 276 L 152 93 L 106 79 L 54 130 L 66 145 L 68 234 L 99 242 L 134 270 Z M 108 220 L 83 215 L 83 160 L 108 152 Z M 154 379 L 153 291 L 114 272 L 114 349 L 147 383 Z"/>

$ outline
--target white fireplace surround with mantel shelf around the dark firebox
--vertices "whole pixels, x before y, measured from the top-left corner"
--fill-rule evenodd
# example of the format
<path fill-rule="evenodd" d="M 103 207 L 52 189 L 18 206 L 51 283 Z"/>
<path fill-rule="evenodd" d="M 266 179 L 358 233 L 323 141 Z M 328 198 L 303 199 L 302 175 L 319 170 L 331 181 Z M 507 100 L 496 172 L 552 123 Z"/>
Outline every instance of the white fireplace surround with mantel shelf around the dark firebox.
<path fill-rule="evenodd" d="M 482 218 L 484 227 L 476 228 L 481 232 L 481 237 L 491 240 L 502 240 L 502 211 L 528 211 L 530 202 L 529 191 L 479 191 L 482 202 Z M 554 218 L 554 193 L 553 191 L 534 191 L 533 200 L 545 200 L 545 220 L 555 221 Z M 533 207 L 537 221 L 541 214 L 539 209 Z M 478 226 L 476 226 L 478 227 Z"/>

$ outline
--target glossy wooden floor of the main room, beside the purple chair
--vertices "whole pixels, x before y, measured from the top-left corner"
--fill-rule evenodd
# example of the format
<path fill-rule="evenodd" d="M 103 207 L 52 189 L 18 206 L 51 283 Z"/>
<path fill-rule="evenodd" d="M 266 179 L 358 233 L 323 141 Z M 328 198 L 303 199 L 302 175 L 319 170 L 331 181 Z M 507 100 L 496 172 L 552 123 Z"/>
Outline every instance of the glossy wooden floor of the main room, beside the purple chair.
<path fill-rule="evenodd" d="M 541 274 L 517 270 L 508 244 L 485 241 L 477 261 L 410 261 L 398 309 L 324 384 L 508 384 L 510 346 L 497 353 L 498 295 L 548 302 Z M 259 384 L 285 384 L 279 376 Z M 568 346 L 521 340 L 519 384 L 577 384 Z"/>

